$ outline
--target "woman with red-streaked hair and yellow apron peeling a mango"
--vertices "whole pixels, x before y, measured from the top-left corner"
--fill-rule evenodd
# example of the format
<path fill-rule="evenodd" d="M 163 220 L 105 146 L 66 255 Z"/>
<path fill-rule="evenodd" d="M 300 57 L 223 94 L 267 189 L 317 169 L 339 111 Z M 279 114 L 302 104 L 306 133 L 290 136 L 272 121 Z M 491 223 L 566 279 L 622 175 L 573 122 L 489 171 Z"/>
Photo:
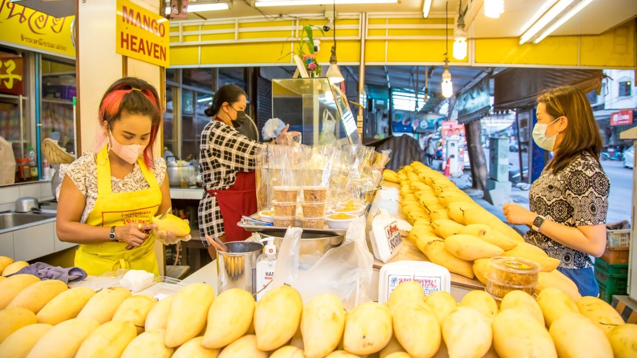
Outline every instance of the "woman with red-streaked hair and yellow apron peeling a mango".
<path fill-rule="evenodd" d="M 57 236 L 80 244 L 75 265 L 89 275 L 120 268 L 159 274 L 150 222 L 171 207 L 166 162 L 152 155 L 161 113 L 152 85 L 117 80 L 99 104 L 95 152 L 60 168 Z"/>

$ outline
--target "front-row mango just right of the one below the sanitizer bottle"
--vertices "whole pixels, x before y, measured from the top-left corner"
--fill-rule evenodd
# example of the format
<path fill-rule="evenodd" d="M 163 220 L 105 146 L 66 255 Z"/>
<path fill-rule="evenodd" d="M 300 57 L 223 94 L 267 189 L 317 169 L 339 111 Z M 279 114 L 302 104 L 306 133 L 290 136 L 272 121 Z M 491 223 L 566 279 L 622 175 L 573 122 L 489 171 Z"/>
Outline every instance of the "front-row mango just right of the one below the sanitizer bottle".
<path fill-rule="evenodd" d="M 422 291 L 422 289 L 421 289 Z M 301 337 L 305 358 L 323 358 L 338 346 L 345 329 L 345 308 L 333 294 L 314 296 L 303 306 Z"/>

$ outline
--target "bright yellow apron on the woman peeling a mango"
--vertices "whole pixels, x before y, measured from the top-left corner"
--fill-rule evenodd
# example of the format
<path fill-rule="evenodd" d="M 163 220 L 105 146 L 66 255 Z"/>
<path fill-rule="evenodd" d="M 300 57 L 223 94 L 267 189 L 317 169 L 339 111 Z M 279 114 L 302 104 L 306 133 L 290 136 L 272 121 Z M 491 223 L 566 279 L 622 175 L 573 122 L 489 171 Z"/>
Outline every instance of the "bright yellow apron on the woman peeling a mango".
<path fill-rule="evenodd" d="M 131 222 L 147 224 L 155 216 L 162 201 L 157 179 L 141 158 L 137 159 L 149 189 L 114 193 L 111 190 L 111 167 L 106 146 L 97 154 L 97 200 L 86 224 L 92 226 L 124 226 Z M 80 245 L 75 253 L 75 266 L 89 275 L 102 275 L 117 269 L 143 269 L 159 275 L 153 250 L 154 236 L 140 247 L 126 250 L 127 243 L 109 242 Z"/>

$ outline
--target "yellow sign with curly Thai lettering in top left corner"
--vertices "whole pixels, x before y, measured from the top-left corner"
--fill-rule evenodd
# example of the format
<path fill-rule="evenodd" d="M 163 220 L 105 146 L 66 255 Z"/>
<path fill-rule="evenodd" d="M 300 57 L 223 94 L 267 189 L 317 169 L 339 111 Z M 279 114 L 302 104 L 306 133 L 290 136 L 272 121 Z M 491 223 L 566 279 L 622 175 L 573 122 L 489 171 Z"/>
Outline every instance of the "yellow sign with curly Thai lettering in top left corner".
<path fill-rule="evenodd" d="M 75 16 L 52 17 L 10 0 L 0 0 L 0 43 L 75 58 L 71 39 L 73 20 Z"/>

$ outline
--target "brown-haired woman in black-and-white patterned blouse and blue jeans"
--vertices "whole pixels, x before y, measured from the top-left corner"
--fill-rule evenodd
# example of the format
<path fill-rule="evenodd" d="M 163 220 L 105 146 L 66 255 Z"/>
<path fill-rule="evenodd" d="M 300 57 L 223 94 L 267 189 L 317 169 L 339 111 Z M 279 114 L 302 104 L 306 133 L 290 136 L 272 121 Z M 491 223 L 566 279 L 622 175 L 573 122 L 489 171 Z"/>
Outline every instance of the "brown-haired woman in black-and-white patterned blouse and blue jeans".
<path fill-rule="evenodd" d="M 503 213 L 512 224 L 532 227 L 524 240 L 559 259 L 557 269 L 582 296 L 598 296 L 590 256 L 604 253 L 610 189 L 599 164 L 599 127 L 588 99 L 575 87 L 547 90 L 537 103 L 533 140 L 554 157 L 531 185 L 531 210 L 505 204 Z"/>

